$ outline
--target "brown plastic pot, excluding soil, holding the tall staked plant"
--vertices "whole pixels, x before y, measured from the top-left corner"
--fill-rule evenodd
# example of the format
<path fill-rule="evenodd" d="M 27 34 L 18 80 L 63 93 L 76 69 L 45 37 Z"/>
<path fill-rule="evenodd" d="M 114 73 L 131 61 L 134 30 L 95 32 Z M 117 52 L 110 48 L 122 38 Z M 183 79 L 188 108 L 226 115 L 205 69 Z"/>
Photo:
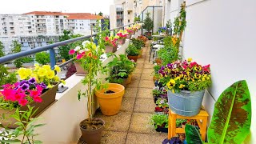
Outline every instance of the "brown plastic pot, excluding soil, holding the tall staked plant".
<path fill-rule="evenodd" d="M 80 130 L 82 132 L 82 140 L 87 144 L 100 144 L 102 138 L 102 131 L 104 130 L 105 122 L 101 118 L 93 118 L 94 123 L 102 122 L 102 126 L 99 126 L 96 130 L 85 129 L 82 125 L 87 119 L 80 122 Z"/>

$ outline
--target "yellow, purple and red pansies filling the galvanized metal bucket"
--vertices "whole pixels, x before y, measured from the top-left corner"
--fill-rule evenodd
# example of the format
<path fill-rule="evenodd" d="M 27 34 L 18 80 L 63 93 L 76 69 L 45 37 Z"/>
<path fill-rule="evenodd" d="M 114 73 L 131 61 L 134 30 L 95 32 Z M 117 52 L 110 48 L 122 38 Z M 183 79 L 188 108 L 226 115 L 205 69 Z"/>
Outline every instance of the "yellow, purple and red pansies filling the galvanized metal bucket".
<path fill-rule="evenodd" d="M 180 91 L 204 90 L 211 85 L 210 65 L 201 66 L 197 62 L 176 61 L 166 66 L 162 66 L 158 71 L 160 81 L 163 82 L 169 90 Z"/>

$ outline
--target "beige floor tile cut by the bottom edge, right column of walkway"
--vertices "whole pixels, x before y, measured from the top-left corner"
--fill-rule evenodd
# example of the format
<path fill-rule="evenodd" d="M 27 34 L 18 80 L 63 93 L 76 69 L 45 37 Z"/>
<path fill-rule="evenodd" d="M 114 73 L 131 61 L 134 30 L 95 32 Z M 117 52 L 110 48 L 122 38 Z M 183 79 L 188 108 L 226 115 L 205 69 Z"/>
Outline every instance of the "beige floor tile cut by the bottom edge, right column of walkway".
<path fill-rule="evenodd" d="M 137 134 L 128 133 L 126 144 L 160 144 L 168 135 L 166 133 L 159 134 Z"/>

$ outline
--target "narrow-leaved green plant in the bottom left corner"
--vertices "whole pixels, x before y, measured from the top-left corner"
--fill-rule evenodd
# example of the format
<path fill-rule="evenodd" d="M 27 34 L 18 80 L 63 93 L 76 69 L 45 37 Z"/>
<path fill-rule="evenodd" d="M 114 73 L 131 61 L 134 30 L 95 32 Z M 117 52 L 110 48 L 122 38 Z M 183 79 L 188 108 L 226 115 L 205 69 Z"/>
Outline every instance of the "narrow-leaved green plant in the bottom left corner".
<path fill-rule="evenodd" d="M 32 118 L 37 110 L 33 110 L 34 107 L 28 106 L 28 110 L 22 111 L 19 108 L 16 109 L 15 113 L 12 115 L 18 122 L 15 125 L 18 127 L 15 130 L 10 130 L 5 127 L 5 130 L 0 131 L 0 142 L 2 143 L 42 143 L 39 140 L 35 140 L 34 137 L 38 134 L 34 134 L 34 130 L 38 127 L 44 126 L 45 124 L 34 124 L 40 118 Z M 0 124 L 0 127 L 3 127 Z M 19 140 L 18 137 L 22 137 Z"/>

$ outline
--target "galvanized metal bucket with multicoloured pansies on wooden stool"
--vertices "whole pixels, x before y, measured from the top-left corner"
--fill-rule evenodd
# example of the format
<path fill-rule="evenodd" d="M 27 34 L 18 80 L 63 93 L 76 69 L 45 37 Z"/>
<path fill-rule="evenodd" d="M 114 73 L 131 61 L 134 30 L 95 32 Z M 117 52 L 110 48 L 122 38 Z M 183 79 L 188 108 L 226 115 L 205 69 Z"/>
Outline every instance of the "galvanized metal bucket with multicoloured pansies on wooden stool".
<path fill-rule="evenodd" d="M 199 113 L 205 90 L 211 86 L 210 65 L 191 61 L 176 61 L 159 70 L 160 82 L 168 89 L 170 110 L 184 116 Z"/>

